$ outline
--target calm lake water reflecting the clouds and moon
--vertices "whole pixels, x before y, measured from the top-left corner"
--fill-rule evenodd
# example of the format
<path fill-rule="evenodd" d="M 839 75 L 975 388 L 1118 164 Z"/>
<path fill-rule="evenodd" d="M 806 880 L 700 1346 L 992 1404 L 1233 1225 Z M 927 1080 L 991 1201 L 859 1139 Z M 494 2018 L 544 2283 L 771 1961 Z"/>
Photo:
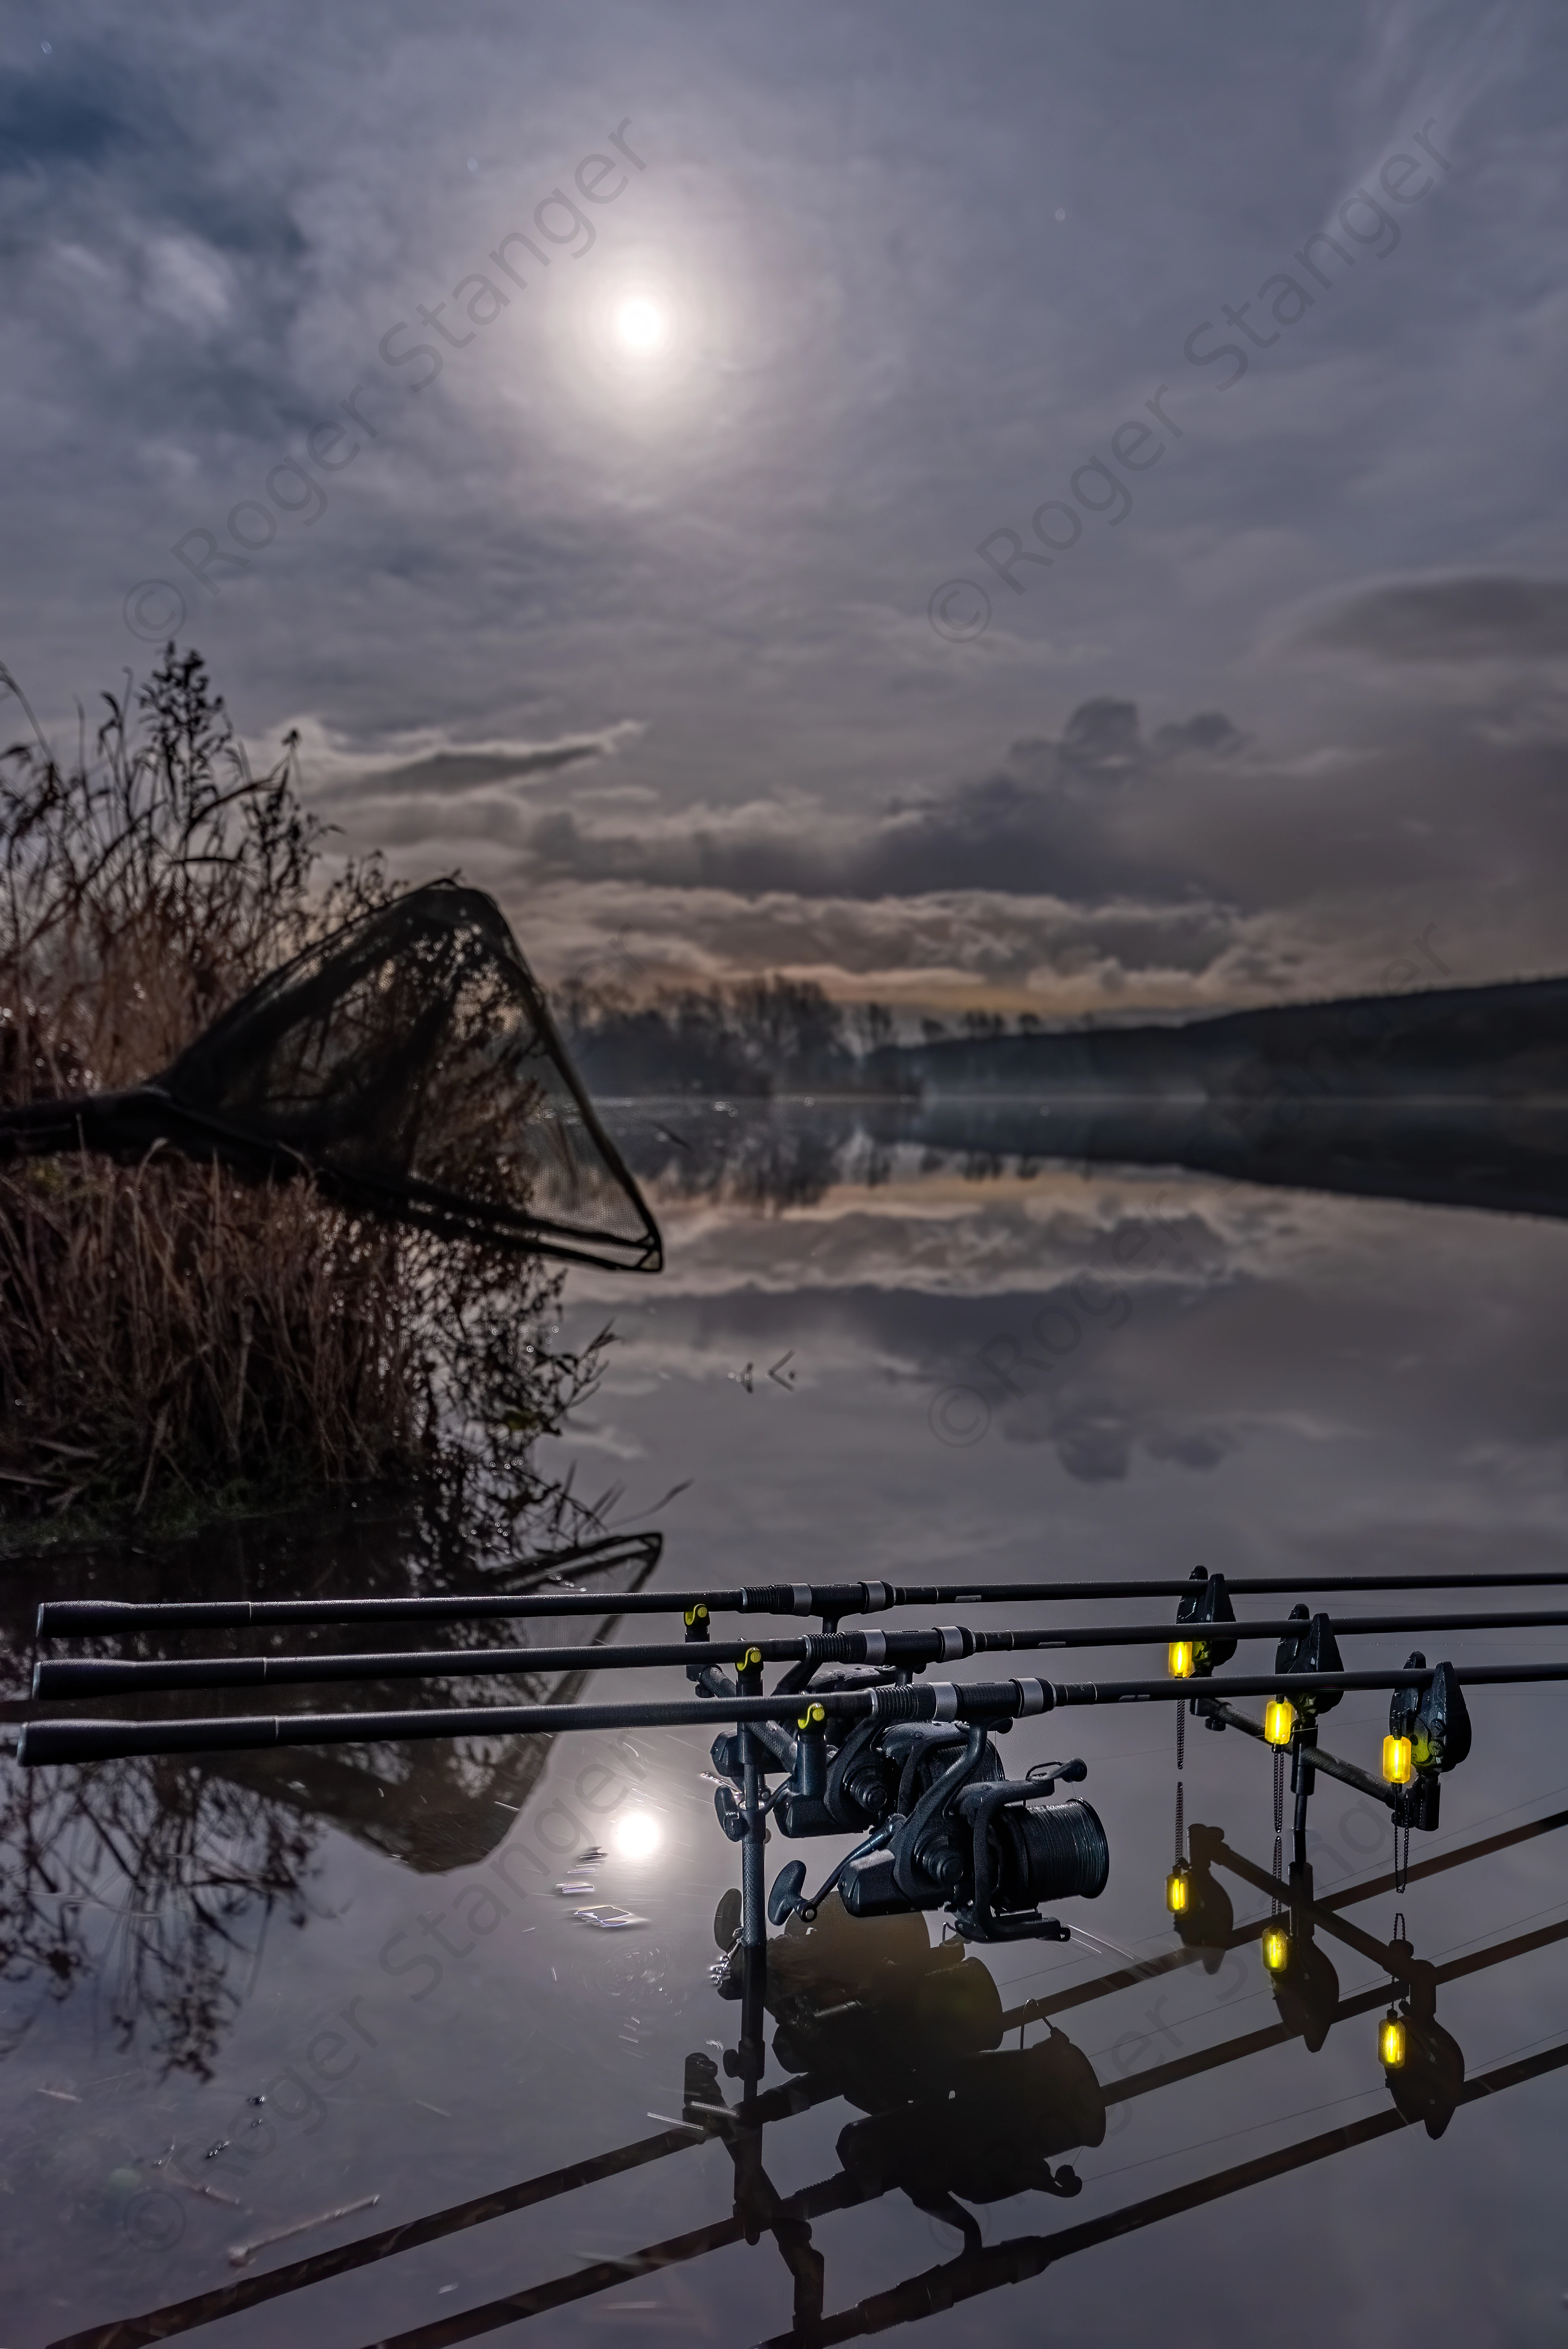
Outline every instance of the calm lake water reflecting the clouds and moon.
<path fill-rule="evenodd" d="M 617 1344 L 547 1449 L 582 1492 L 620 1487 L 615 1527 L 664 1529 L 660 1581 L 1110 1581 L 1204 1562 L 1300 1576 L 1310 1597 L 1322 1574 L 1568 1571 L 1568 1226 L 965 1167 L 711 1104 L 622 1113 L 622 1130 L 667 1167 L 669 1271 L 570 1276 L 568 1332 L 613 1313 Z M 9 1564 L 7 1712 L 40 1595 L 460 1588 L 460 1569 L 361 1513 L 167 1560 Z M 1115 1611 L 1148 1621 L 1150 1602 Z M 530 1628 L 552 1635 L 570 1630 Z M 183 1635 L 188 1654 L 211 1647 Z M 1411 1647 L 1549 1658 L 1568 1633 L 1359 1637 L 1345 1661 Z M 1106 1649 L 1073 1677 L 1131 1658 L 1162 1670 L 1157 1651 Z M 474 1694 L 500 1687 L 516 1684 Z M 589 1687 L 669 1694 L 634 1672 Z M 1376 1771 L 1385 1712 L 1347 1696 L 1324 1745 Z M 817 2283 L 822 2337 L 892 2326 L 930 2349 L 981 2330 L 1094 2349 L 1561 2342 L 1563 1696 L 1479 1689 L 1472 1715 L 1474 1752 L 1441 1830 L 1413 1837 L 1401 1898 L 1387 1813 L 1319 1778 L 1331 1976 L 1319 1964 L 1284 2013 L 1258 1954 L 1263 1748 L 1188 1724 L 1185 1820 L 1216 1830 L 1195 1849 L 1218 1853 L 1232 1910 L 1204 1964 L 1164 1912 L 1171 1708 L 1021 1724 L 1009 1771 L 1082 1755 L 1110 1837 L 1106 1893 L 1061 1910 L 1073 1943 L 960 1957 L 939 1924 L 826 1912 L 775 1957 L 746 2126 L 721 2112 L 744 2095 L 725 2067 L 739 2006 L 711 1980 L 737 1853 L 699 1731 L 5 1762 L 0 2349 L 183 2330 L 214 2349 L 744 2349 L 789 2337 Z M 775 1837 L 770 1875 L 798 1853 L 815 1882 L 843 1849 Z M 584 1903 L 638 1921 L 606 1931 L 575 1917 Z M 1397 1912 L 1476 2091 L 1441 2138 L 1390 2126 L 1376 1952 Z M 369 2236 L 390 2239 L 345 2264 Z M 293 2288 L 204 2297 L 268 2276 Z"/>

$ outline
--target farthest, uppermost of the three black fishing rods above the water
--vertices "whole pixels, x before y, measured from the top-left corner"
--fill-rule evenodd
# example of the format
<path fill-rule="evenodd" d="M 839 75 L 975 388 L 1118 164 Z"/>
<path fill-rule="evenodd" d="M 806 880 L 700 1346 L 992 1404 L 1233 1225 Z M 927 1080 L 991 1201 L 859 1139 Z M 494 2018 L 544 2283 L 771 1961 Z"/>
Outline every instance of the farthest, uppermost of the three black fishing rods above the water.
<path fill-rule="evenodd" d="M 622 1536 L 648 1541 L 657 1536 Z M 561 1567 L 584 1553 L 561 1553 L 538 1564 Z M 1221 1576 L 1214 1576 L 1218 1581 Z M 1052 1583 L 746 1583 L 730 1590 L 624 1590 L 615 1593 L 617 1614 L 688 1614 L 704 1607 L 714 1614 L 784 1614 L 822 1616 L 836 1628 L 843 1616 L 885 1614 L 892 1607 L 1038 1607 L 1068 1600 L 1169 1600 L 1192 1597 L 1209 1581 L 1199 1567 L 1190 1576 L 1153 1576 L 1141 1581 L 1052 1581 Z M 1561 1574 L 1261 1574 L 1225 1576 L 1232 1593 L 1246 1597 L 1291 1595 L 1300 1590 L 1561 1590 Z M 441 1597 L 376 1600 L 45 1600 L 38 1609 L 38 1637 L 103 1635 L 122 1630 L 214 1630 L 282 1623 L 462 1623 L 481 1618 L 603 1614 L 603 1595 L 587 1590 L 552 1590 L 495 1595 L 491 1590 Z"/>

